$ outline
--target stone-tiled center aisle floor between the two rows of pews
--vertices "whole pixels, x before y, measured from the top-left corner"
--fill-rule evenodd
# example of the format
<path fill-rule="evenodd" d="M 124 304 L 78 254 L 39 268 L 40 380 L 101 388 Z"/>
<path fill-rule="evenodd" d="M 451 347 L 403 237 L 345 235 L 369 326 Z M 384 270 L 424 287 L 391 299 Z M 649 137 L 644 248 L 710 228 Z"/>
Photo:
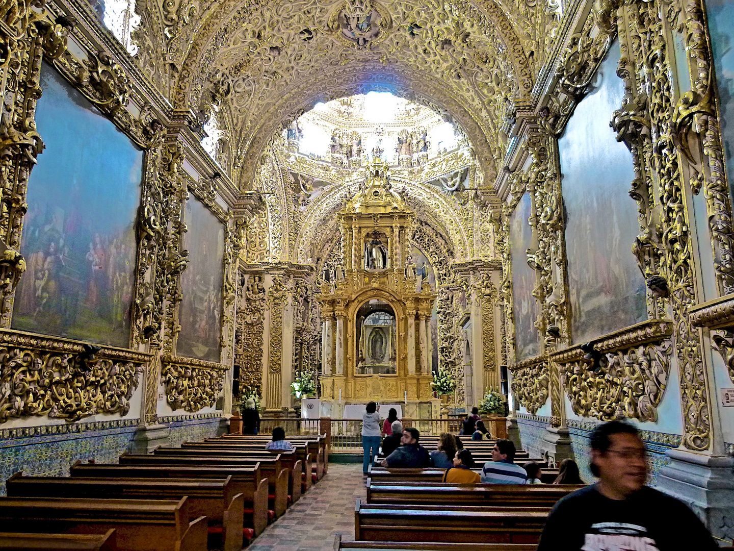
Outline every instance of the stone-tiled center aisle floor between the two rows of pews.
<path fill-rule="evenodd" d="M 332 551 L 334 533 L 355 539 L 355 502 L 366 497 L 361 464 L 329 464 L 286 514 L 269 525 L 248 551 Z"/>

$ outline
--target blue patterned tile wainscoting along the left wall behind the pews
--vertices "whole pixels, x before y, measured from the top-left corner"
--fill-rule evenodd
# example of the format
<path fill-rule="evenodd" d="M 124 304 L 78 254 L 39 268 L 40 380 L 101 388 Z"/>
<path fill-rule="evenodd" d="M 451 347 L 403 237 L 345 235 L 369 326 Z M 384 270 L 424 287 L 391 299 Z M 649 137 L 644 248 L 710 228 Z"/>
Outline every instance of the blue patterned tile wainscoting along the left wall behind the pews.
<path fill-rule="evenodd" d="M 217 436 L 219 412 L 200 416 L 161 417 L 159 423 L 170 431 L 169 443 L 181 445 Z M 117 463 L 117 458 L 132 450 L 139 419 L 77 422 L 0 429 L 0 494 L 5 480 L 13 473 L 68 476 L 74 461 L 93 459 L 97 463 Z"/>

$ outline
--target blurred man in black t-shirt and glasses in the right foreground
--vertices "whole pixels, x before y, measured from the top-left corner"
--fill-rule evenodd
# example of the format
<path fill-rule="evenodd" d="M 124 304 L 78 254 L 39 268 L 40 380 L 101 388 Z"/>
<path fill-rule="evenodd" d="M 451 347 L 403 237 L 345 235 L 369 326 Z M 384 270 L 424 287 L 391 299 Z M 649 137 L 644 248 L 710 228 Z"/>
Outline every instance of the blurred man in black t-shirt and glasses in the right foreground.
<path fill-rule="evenodd" d="M 612 421 L 592 433 L 599 481 L 551 510 L 537 551 L 713 551 L 719 547 L 686 505 L 644 485 L 647 461 L 636 428 Z"/>

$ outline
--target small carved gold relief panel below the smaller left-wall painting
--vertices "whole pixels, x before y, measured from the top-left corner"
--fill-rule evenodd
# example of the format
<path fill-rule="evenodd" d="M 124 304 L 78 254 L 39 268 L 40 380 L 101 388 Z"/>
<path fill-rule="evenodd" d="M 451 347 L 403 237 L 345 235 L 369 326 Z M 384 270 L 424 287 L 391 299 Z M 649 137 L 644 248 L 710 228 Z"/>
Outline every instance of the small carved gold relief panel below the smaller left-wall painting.
<path fill-rule="evenodd" d="M 214 406 L 229 369 L 212 361 L 168 355 L 163 356 L 161 364 L 167 403 L 173 410 L 192 413 Z"/>

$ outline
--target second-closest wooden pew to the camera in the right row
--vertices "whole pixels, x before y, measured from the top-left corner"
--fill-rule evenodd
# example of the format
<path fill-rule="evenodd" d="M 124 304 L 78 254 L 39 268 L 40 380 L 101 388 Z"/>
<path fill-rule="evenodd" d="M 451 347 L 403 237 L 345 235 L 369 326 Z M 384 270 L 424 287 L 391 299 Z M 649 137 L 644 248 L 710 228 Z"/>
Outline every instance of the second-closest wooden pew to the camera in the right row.
<path fill-rule="evenodd" d="M 355 539 L 537 544 L 550 508 L 387 505 L 355 508 Z"/>

